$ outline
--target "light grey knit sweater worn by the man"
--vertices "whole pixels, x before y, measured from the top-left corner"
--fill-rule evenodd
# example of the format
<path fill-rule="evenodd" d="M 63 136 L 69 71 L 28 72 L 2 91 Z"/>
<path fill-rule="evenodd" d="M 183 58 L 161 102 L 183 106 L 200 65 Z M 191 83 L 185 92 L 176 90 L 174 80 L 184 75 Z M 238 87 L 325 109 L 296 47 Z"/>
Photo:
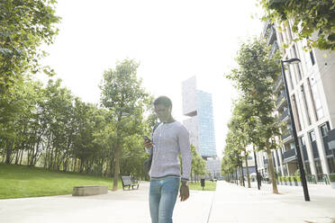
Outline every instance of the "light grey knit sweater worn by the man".
<path fill-rule="evenodd" d="M 149 176 L 152 178 L 168 175 L 181 176 L 182 180 L 189 180 L 191 172 L 191 147 L 189 133 L 179 121 L 160 123 L 153 133 L 154 146 L 147 149 L 152 156 Z M 180 174 L 178 155 L 181 153 L 183 174 Z"/>

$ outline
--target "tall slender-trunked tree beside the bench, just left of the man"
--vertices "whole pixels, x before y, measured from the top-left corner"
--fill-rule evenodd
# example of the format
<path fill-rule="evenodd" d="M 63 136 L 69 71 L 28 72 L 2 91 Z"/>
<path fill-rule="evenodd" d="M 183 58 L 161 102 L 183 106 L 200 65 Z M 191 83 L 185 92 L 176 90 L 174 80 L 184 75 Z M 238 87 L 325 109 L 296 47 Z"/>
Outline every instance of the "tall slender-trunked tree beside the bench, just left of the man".
<path fill-rule="evenodd" d="M 104 72 L 100 86 L 101 103 L 113 113 L 115 121 L 115 141 L 113 157 L 113 191 L 117 190 L 120 174 L 122 145 L 126 138 L 143 131 L 143 107 L 148 94 L 141 88 L 137 77 L 139 64 L 131 59 L 117 62 L 115 69 Z"/>

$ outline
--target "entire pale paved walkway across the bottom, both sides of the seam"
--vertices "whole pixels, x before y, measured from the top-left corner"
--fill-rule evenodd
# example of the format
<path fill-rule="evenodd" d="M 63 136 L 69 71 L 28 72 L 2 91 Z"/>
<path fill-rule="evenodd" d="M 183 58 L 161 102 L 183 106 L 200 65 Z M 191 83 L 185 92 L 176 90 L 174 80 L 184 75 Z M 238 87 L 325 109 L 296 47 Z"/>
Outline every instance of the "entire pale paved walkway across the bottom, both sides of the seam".
<path fill-rule="evenodd" d="M 218 182 L 216 192 L 191 191 L 189 200 L 177 201 L 174 222 L 335 223 L 335 190 L 329 185 L 310 185 L 310 202 L 303 200 L 302 187 L 278 188 L 276 195 L 269 184 L 258 191 L 255 183 L 248 189 Z M 149 223 L 148 192 L 149 183 L 140 183 L 138 191 L 0 200 L 0 223 Z"/>

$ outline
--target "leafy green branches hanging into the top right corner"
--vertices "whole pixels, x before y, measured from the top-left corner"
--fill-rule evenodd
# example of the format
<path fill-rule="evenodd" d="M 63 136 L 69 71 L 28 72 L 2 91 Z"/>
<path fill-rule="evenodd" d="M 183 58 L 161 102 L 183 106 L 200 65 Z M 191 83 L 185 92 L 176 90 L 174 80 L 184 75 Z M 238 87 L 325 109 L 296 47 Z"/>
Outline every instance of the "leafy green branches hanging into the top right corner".
<path fill-rule="evenodd" d="M 297 40 L 307 39 L 311 48 L 335 49 L 334 0 L 258 1 L 267 13 L 263 20 L 288 22 L 292 19 L 292 31 L 297 35 Z M 316 38 L 313 33 L 316 33 Z"/>

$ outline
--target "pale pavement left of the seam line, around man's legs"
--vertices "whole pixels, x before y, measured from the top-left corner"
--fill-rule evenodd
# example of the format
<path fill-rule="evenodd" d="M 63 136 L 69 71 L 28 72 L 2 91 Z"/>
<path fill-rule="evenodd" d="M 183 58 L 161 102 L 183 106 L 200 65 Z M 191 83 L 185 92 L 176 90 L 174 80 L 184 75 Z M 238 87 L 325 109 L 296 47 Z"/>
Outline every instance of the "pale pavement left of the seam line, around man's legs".
<path fill-rule="evenodd" d="M 174 222 L 207 222 L 214 192 L 191 191 L 189 200 L 177 201 Z M 139 190 L 103 195 L 0 200 L 1 223 L 149 223 L 149 183 Z"/>

